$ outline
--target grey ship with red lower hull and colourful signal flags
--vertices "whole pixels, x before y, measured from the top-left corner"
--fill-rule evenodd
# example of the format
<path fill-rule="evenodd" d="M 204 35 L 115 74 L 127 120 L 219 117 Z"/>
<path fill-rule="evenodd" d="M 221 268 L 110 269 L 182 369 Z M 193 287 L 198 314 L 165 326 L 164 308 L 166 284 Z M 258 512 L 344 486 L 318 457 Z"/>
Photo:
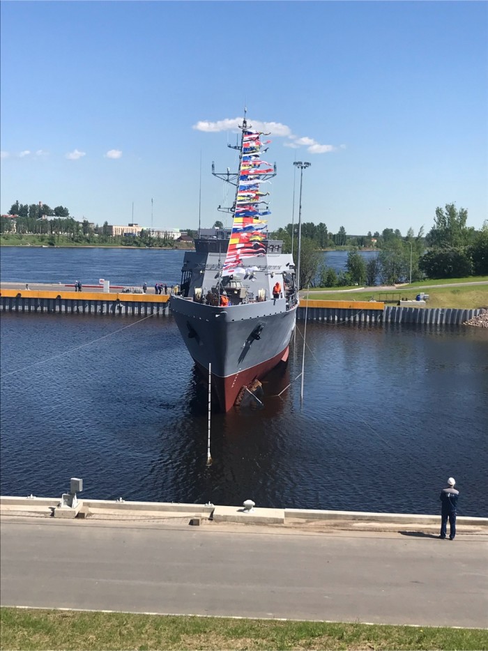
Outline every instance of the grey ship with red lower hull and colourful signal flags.
<path fill-rule="evenodd" d="M 287 362 L 296 325 L 298 283 L 293 256 L 268 237 L 269 179 L 276 165 L 263 160 L 269 134 L 244 118 L 234 173 L 212 174 L 235 185 L 227 210 L 231 229 L 200 229 L 185 252 L 171 313 L 199 372 L 208 378 L 220 411 L 257 396 L 261 380 Z M 256 398 L 257 399 L 257 398 Z M 259 401 L 259 399 L 257 399 Z"/>

